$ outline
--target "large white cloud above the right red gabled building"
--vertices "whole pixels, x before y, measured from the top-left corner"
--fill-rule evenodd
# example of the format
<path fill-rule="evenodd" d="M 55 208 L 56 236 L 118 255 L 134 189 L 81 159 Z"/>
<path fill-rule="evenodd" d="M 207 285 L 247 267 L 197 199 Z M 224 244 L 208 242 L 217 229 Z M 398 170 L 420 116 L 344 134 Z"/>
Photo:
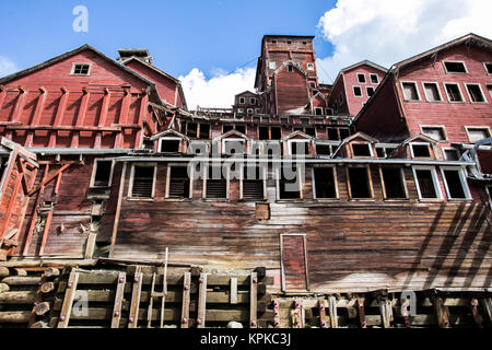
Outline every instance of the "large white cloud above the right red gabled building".
<path fill-rule="evenodd" d="M 319 20 L 331 57 L 317 59 L 321 81 L 363 59 L 389 68 L 468 33 L 492 37 L 492 1 L 338 0 Z"/>

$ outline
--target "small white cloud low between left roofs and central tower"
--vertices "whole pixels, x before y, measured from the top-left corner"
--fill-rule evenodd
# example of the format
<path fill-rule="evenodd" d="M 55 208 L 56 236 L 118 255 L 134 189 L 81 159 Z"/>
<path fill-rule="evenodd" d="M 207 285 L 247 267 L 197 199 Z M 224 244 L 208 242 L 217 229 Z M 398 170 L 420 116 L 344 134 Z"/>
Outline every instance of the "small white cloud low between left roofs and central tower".
<path fill-rule="evenodd" d="M 186 77 L 179 77 L 189 109 L 200 107 L 231 108 L 234 95 L 249 90 L 255 84 L 255 68 L 237 69 L 226 74 L 214 69 L 214 75 L 207 80 L 203 72 L 194 68 Z"/>

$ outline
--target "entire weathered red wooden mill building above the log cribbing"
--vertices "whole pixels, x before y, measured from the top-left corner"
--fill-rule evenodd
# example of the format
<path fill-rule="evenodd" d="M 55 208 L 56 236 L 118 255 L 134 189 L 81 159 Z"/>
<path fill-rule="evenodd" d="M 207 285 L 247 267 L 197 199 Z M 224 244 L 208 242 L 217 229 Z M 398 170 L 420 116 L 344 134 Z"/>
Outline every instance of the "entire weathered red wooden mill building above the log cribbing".
<path fill-rule="evenodd" d="M 142 49 L 117 62 L 82 46 L 3 78 L 0 257 L 151 264 L 169 249 L 173 264 L 265 266 L 278 293 L 487 293 L 490 145 L 473 143 L 490 137 L 491 48 L 468 35 L 329 86 L 313 37 L 265 36 L 258 94 L 234 105 L 261 109 L 241 116 L 186 110 Z M 364 107 L 339 85 L 360 71 L 377 86 Z"/>

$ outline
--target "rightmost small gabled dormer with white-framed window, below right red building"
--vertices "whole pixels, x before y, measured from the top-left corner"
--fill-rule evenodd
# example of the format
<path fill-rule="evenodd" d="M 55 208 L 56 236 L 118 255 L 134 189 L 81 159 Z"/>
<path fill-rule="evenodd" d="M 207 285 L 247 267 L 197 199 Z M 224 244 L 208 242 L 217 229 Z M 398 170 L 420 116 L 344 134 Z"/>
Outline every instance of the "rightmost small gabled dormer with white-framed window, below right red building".
<path fill-rule="evenodd" d="M 397 159 L 417 159 L 435 160 L 437 159 L 434 145 L 437 143 L 434 139 L 419 133 L 405 140 L 398 145 L 388 158 Z"/>

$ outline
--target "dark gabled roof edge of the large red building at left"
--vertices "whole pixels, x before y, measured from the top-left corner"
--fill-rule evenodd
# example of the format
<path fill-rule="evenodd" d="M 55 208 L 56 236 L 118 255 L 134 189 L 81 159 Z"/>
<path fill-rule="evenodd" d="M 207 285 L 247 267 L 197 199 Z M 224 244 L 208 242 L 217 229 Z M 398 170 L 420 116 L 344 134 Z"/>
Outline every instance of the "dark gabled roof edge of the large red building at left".
<path fill-rule="evenodd" d="M 52 65 L 55 65 L 55 63 L 57 63 L 57 62 L 59 62 L 59 61 L 61 61 L 61 60 L 63 60 L 63 59 L 66 59 L 66 58 L 72 57 L 72 56 L 74 56 L 74 55 L 77 55 L 77 54 L 80 54 L 80 52 L 82 52 L 82 51 L 85 51 L 85 50 L 91 50 L 91 51 L 97 54 L 97 55 L 101 56 L 103 59 L 105 59 L 107 62 L 112 63 L 113 66 L 118 67 L 119 69 L 124 70 L 125 72 L 127 72 L 127 73 L 133 75 L 134 78 L 137 78 L 137 79 L 139 79 L 139 80 L 145 82 L 147 84 L 149 84 L 149 85 L 155 88 L 154 82 L 152 82 L 152 81 L 150 81 L 149 79 L 147 79 L 147 78 L 144 78 L 144 77 L 138 74 L 137 72 L 132 71 L 131 69 L 129 69 L 129 68 L 127 68 L 127 67 L 125 67 L 125 66 L 119 65 L 119 63 L 118 63 L 117 61 L 115 61 L 114 59 L 107 57 L 106 55 L 104 55 L 103 52 L 96 50 L 94 47 L 92 47 L 91 45 L 87 45 L 87 44 L 82 45 L 82 46 L 80 46 L 80 47 L 78 47 L 78 48 L 75 48 L 75 49 L 73 49 L 73 50 L 71 50 L 71 51 L 65 52 L 65 54 L 62 54 L 62 55 L 60 55 L 60 56 L 54 57 L 54 58 L 51 58 L 51 59 L 49 59 L 49 60 L 47 60 L 47 61 L 44 61 L 43 63 L 39 63 L 39 65 L 33 66 L 33 67 L 31 67 L 31 68 L 24 69 L 24 70 L 22 70 L 22 71 L 20 71 L 20 72 L 16 72 L 16 73 L 7 75 L 7 77 L 0 79 L 0 84 L 3 84 L 3 83 L 5 83 L 5 82 L 9 82 L 9 81 L 11 81 L 11 80 L 14 80 L 14 79 L 17 79 L 17 78 L 27 75 L 27 74 L 31 74 L 31 73 L 33 73 L 33 72 L 36 72 L 36 71 L 43 69 L 43 68 L 52 66 Z"/>

